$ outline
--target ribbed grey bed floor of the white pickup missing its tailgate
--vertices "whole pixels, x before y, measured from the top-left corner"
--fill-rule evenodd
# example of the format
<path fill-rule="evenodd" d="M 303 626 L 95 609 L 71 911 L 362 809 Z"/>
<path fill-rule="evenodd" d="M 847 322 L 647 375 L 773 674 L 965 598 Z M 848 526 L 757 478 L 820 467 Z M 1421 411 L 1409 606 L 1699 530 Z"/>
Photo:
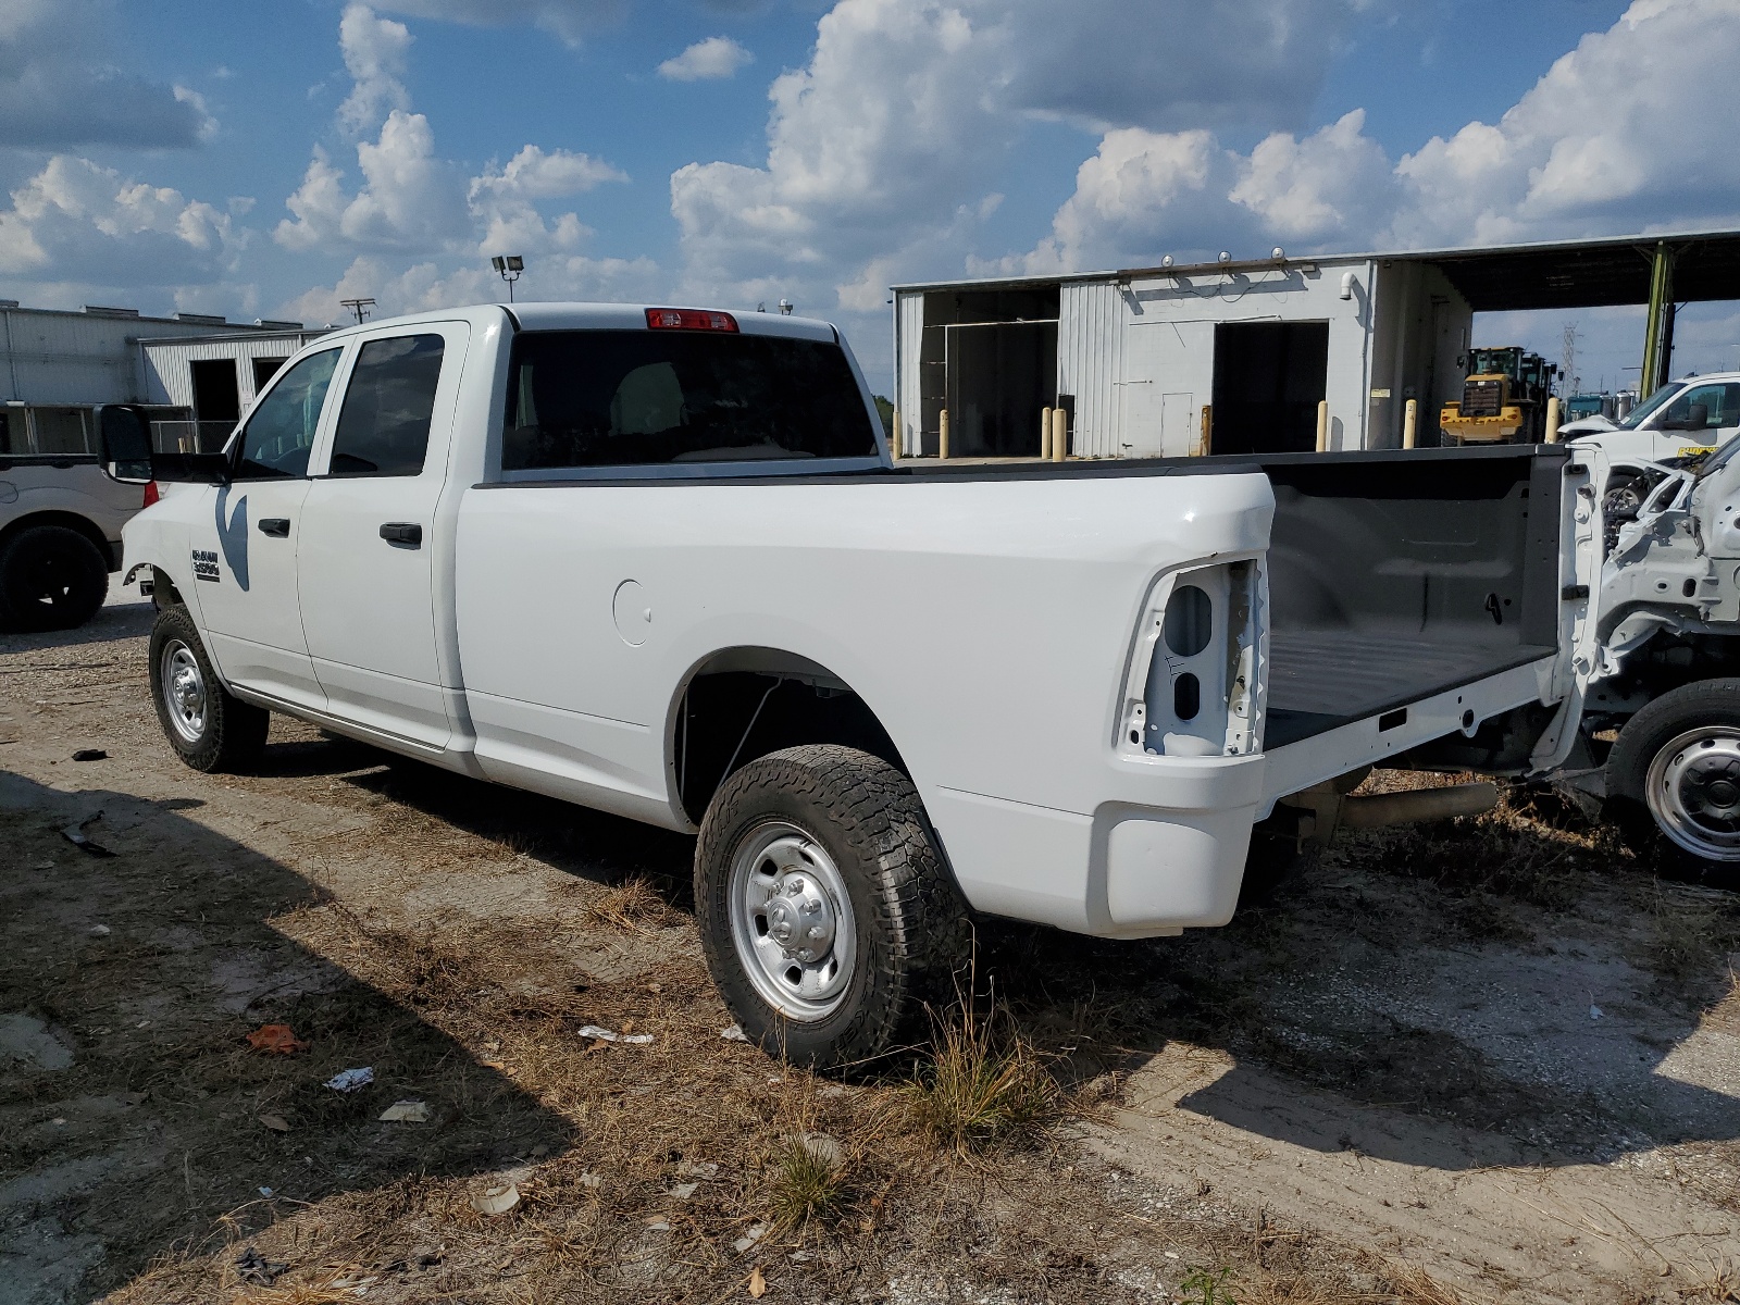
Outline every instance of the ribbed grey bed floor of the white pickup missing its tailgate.
<path fill-rule="evenodd" d="M 1554 656 L 1538 644 L 1467 642 L 1373 630 L 1272 630 L 1263 746 L 1322 734 L 1404 703 Z"/>

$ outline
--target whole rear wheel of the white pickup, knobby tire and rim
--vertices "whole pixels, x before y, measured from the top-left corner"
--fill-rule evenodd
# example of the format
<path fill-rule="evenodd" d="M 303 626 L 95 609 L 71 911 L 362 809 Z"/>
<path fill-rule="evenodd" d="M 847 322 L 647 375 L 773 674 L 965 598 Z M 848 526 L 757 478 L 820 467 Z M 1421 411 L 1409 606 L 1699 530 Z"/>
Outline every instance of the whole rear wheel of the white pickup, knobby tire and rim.
<path fill-rule="evenodd" d="M 832 743 L 736 771 L 706 807 L 694 901 L 743 1034 L 813 1068 L 882 1056 L 954 995 L 967 907 L 912 781 Z"/>

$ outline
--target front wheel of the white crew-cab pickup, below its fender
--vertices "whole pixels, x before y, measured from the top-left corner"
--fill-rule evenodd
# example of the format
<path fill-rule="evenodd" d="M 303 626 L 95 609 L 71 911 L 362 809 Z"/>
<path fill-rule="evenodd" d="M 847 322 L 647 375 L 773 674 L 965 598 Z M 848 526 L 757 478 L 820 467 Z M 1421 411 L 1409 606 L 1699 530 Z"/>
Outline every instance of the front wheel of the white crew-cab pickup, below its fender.
<path fill-rule="evenodd" d="M 176 755 L 205 773 L 254 766 L 266 746 L 271 713 L 223 687 L 186 607 L 158 611 L 150 647 L 151 701 Z"/>

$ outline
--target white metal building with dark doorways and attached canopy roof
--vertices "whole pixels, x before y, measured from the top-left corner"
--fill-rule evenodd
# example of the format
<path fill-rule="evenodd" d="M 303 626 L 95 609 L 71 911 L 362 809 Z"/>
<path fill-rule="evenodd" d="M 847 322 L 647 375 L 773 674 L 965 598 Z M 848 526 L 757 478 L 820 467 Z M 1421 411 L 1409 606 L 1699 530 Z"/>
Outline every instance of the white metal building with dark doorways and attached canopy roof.
<path fill-rule="evenodd" d="M 900 447 L 1032 458 L 1067 414 L 1079 458 L 1418 442 L 1460 398 L 1474 315 L 1648 304 L 1644 383 L 1669 376 L 1676 303 L 1740 299 L 1740 231 L 1493 249 L 1216 261 L 894 287 Z"/>

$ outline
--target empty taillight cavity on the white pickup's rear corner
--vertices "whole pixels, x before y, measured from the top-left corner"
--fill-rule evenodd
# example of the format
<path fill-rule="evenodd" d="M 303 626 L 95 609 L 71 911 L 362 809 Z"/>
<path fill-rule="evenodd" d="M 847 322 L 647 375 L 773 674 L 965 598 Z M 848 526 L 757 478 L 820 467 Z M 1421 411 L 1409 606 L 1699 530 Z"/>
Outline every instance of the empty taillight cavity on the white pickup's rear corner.
<path fill-rule="evenodd" d="M 1262 599 L 1255 560 L 1154 586 L 1131 658 L 1122 752 L 1237 757 L 1262 746 Z"/>

